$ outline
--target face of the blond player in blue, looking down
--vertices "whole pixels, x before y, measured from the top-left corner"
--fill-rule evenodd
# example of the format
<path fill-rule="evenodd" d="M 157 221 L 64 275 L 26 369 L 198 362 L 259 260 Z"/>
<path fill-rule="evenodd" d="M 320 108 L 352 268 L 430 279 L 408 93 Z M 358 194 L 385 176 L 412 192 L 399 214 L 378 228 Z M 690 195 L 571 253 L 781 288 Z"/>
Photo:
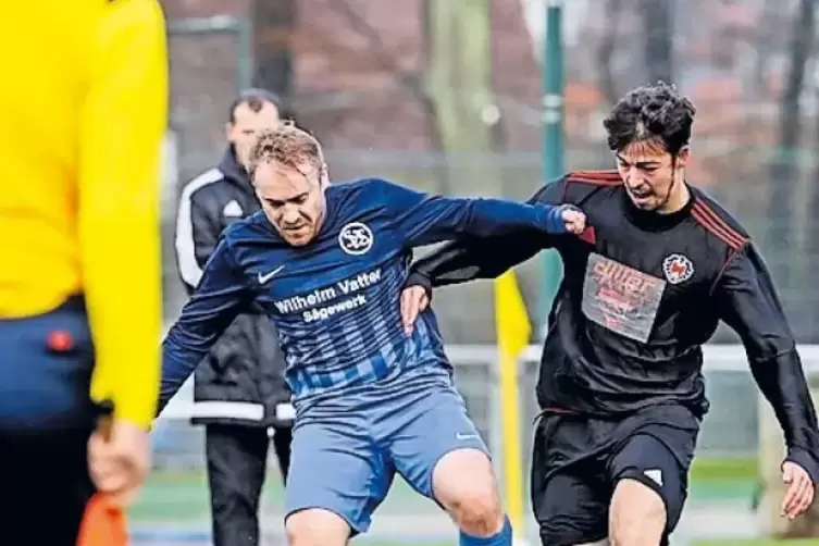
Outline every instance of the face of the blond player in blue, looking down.
<path fill-rule="evenodd" d="M 262 163 L 253 185 L 264 213 L 287 243 L 301 247 L 315 238 L 324 220 L 326 175 L 321 169 Z"/>

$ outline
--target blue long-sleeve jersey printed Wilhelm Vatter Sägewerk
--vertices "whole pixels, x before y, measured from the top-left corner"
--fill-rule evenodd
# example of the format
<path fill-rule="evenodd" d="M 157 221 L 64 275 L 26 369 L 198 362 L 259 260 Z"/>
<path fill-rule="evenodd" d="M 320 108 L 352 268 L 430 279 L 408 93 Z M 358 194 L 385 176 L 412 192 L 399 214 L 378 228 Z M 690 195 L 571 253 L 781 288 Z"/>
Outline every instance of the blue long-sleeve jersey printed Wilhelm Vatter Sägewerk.
<path fill-rule="evenodd" d="M 299 401 L 423 367 L 450 368 L 431 310 L 408 336 L 399 296 L 412 248 L 460 235 L 564 233 L 561 207 L 429 196 L 383 179 L 326 189 L 310 245 L 287 244 L 257 213 L 233 223 L 163 343 L 160 409 L 251 306 L 278 331 Z"/>

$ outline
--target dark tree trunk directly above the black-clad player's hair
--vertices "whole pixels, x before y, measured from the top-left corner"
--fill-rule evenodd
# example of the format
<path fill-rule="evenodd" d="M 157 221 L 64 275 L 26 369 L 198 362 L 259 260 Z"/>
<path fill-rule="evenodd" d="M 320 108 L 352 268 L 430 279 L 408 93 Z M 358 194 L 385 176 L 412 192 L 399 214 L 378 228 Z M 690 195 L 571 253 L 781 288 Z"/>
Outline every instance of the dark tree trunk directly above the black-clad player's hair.
<path fill-rule="evenodd" d="M 671 0 L 643 0 L 643 37 L 648 80 L 672 83 L 673 65 L 673 5 Z"/>

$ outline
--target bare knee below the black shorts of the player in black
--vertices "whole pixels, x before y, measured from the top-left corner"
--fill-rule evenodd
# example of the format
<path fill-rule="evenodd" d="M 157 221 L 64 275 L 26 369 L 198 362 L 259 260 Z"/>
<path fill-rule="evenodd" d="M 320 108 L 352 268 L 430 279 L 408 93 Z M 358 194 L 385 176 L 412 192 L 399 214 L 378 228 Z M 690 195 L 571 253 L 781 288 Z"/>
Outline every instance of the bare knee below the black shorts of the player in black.
<path fill-rule="evenodd" d="M 611 546 L 654 546 L 666 530 L 666 505 L 659 494 L 631 479 L 620 480 L 611 497 Z"/>

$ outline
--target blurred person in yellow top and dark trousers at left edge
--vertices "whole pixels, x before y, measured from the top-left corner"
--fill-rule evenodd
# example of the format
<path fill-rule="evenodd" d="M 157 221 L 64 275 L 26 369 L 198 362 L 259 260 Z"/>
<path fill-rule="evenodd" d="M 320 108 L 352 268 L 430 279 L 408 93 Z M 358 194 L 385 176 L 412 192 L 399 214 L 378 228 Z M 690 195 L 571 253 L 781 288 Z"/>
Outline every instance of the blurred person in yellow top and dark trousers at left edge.
<path fill-rule="evenodd" d="M 165 40 L 156 0 L 3 5 L 3 546 L 75 544 L 96 491 L 126 501 L 148 472 Z M 103 400 L 109 443 L 94 432 Z"/>

